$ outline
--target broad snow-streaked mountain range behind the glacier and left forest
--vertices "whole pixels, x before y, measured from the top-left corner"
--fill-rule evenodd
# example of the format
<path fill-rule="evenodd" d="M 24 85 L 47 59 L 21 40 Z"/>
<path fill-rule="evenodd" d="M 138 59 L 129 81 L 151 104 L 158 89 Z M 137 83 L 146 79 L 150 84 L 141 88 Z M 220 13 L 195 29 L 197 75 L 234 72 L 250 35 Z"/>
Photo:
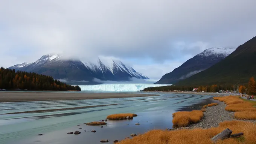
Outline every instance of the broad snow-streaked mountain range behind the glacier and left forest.
<path fill-rule="evenodd" d="M 66 80 L 75 84 L 99 84 L 99 81 L 129 81 L 130 78 L 149 79 L 146 75 L 136 72 L 132 67 L 124 65 L 121 61 L 111 60 L 97 63 L 82 62 L 81 60 L 64 59 L 58 54 L 43 55 L 33 63 L 14 65 L 9 69 L 36 72 L 50 75 L 55 79 Z M 85 83 L 86 82 L 86 83 Z"/>

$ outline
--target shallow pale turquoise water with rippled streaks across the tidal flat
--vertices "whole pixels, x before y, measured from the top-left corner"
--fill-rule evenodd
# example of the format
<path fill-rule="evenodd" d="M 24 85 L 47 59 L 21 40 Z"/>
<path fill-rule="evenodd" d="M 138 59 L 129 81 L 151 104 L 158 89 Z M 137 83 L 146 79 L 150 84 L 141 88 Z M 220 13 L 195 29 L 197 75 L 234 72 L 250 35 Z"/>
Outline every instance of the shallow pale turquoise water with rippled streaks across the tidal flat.
<path fill-rule="evenodd" d="M 159 93 L 158 93 L 159 94 Z M 93 105 L 104 107 L 59 110 L 44 113 L 0 115 L 0 144 L 96 144 L 101 139 L 121 140 L 131 133 L 172 127 L 172 113 L 210 98 L 207 95 L 163 93 L 138 98 L 90 99 L 74 101 L 37 101 L 0 103 L 0 114 Z M 104 120 L 114 113 L 136 113 L 133 120 L 107 121 L 103 128 L 83 123 Z M 135 125 L 140 123 L 140 125 Z M 80 126 L 77 126 L 80 125 Z M 82 129 L 78 129 L 82 127 Z M 87 129 L 86 132 L 84 129 Z M 95 129 L 96 133 L 89 130 Z M 68 135 L 78 130 L 80 135 Z M 38 136 L 37 134 L 43 133 Z"/>

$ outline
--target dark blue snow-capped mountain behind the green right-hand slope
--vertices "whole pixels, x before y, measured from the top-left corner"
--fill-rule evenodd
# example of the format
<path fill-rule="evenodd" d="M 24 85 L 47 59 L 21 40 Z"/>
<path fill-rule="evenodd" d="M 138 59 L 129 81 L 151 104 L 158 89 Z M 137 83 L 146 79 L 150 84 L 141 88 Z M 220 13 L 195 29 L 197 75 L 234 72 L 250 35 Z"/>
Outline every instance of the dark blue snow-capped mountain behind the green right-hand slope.
<path fill-rule="evenodd" d="M 193 58 L 190 58 L 172 72 L 165 74 L 155 84 L 175 84 L 178 81 L 210 68 L 210 66 L 220 62 L 234 50 L 234 48 L 229 47 L 208 48 Z"/>

